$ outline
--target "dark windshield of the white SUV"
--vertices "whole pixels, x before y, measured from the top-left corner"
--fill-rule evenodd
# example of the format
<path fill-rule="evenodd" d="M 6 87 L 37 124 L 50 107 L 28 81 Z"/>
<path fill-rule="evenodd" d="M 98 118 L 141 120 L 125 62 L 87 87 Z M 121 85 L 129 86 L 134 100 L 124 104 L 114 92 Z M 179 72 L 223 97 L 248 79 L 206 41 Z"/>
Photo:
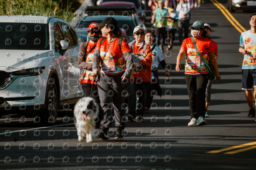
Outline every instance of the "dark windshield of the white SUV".
<path fill-rule="evenodd" d="M 48 32 L 48 24 L 2 22 L 0 49 L 50 49 Z"/>

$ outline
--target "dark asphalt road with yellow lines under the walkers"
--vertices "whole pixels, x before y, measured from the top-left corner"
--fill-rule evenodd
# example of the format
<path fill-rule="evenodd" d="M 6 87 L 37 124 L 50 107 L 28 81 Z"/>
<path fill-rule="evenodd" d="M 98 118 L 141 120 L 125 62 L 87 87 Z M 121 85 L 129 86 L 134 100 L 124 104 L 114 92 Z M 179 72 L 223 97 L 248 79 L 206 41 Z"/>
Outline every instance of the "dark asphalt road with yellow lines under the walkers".
<path fill-rule="evenodd" d="M 224 0 L 219 2 L 226 6 Z M 233 16 L 249 29 L 250 13 Z M 157 107 L 145 115 L 143 123 L 127 122 L 124 139 L 114 140 L 114 133 L 110 140 L 78 142 L 72 118 L 63 118 L 72 117 L 70 111 L 60 112 L 55 127 L 38 128 L 32 118 L 20 123 L 13 116 L 10 123 L 10 119 L 1 119 L 0 123 L 0 169 L 255 169 L 256 123 L 255 118 L 247 117 L 248 106 L 241 90 L 240 33 L 210 1 L 192 10 L 190 25 L 196 20 L 212 26 L 222 76 L 212 85 L 206 126 L 187 127 L 190 113 L 184 60 L 182 70 L 176 72 L 180 46 L 175 41 L 171 55 L 165 55 L 172 65 L 171 81 L 165 82 L 164 70 L 160 69 L 166 95 L 154 98 Z"/>

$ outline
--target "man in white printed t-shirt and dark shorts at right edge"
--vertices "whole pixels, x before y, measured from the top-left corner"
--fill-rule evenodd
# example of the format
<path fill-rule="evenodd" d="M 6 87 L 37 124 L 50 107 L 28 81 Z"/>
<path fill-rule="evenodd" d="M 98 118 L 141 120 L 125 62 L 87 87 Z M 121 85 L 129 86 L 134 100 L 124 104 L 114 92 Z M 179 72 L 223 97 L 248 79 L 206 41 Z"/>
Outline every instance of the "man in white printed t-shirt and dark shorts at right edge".
<path fill-rule="evenodd" d="M 246 100 L 250 108 L 248 117 L 255 117 L 256 104 L 253 106 L 252 86 L 254 87 L 254 100 L 256 101 L 256 59 L 251 50 L 256 43 L 256 13 L 250 16 L 251 29 L 245 31 L 240 37 L 239 52 L 244 54 L 242 65 L 242 89 L 245 90 Z"/>

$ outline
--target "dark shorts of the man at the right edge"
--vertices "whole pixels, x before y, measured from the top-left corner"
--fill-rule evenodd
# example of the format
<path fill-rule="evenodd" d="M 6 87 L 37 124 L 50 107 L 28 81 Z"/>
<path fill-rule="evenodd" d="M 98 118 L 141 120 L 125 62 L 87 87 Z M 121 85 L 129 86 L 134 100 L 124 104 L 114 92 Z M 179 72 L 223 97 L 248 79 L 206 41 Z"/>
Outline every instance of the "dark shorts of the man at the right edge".
<path fill-rule="evenodd" d="M 242 89 L 251 90 L 256 87 L 256 69 L 242 69 Z"/>

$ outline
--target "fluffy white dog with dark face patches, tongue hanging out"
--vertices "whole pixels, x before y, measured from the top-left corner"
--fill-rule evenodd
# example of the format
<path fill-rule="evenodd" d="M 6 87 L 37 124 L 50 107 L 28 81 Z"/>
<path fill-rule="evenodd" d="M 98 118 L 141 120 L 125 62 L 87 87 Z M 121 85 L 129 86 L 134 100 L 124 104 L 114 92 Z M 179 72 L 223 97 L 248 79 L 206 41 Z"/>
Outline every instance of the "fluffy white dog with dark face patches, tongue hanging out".
<path fill-rule="evenodd" d="M 74 124 L 77 129 L 78 141 L 86 136 L 86 142 L 92 142 L 93 130 L 96 127 L 94 119 L 99 120 L 98 104 L 92 97 L 83 97 L 74 107 Z"/>

